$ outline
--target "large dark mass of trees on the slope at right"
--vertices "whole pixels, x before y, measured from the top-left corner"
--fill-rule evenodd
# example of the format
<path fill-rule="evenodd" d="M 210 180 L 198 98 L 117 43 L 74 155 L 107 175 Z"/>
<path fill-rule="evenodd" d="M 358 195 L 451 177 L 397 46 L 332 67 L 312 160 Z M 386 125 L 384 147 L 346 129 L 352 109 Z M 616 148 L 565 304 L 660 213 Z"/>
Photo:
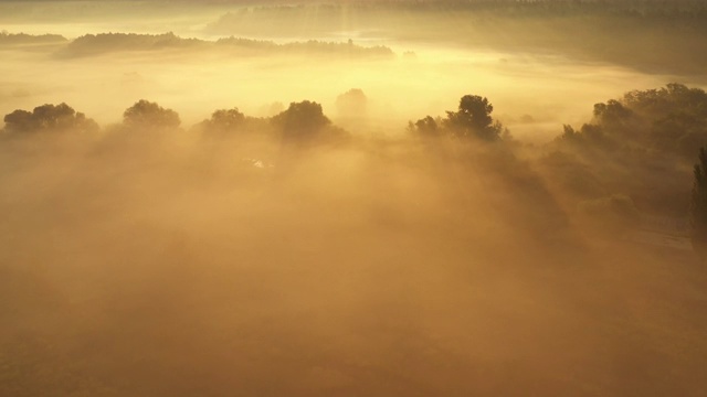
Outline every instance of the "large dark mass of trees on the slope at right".
<path fill-rule="evenodd" d="M 594 105 L 592 120 L 566 125 L 538 163 L 576 200 L 621 194 L 645 211 L 684 217 L 689 169 L 704 146 L 707 94 L 668 84 Z"/>

